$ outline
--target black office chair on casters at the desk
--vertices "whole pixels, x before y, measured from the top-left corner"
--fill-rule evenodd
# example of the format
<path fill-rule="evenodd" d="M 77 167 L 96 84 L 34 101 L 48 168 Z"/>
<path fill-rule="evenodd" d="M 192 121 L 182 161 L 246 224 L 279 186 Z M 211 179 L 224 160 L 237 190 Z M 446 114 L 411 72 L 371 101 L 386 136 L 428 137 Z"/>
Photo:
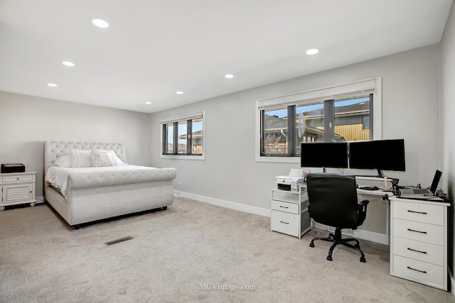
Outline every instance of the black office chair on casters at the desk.
<path fill-rule="evenodd" d="M 341 229 L 357 229 L 363 224 L 367 215 L 368 200 L 358 203 L 357 186 L 354 175 L 311 173 L 306 179 L 308 189 L 310 217 L 321 224 L 336 228 L 335 234 L 329 233 L 327 238 L 316 237 L 311 240 L 314 247 L 315 240 L 333 242 L 328 250 L 327 260 L 332 260 L 333 248 L 343 244 L 357 250 L 365 263 L 365 255 L 360 250 L 360 243 L 355 238 L 341 238 Z M 348 242 L 354 241 L 355 245 Z"/>

